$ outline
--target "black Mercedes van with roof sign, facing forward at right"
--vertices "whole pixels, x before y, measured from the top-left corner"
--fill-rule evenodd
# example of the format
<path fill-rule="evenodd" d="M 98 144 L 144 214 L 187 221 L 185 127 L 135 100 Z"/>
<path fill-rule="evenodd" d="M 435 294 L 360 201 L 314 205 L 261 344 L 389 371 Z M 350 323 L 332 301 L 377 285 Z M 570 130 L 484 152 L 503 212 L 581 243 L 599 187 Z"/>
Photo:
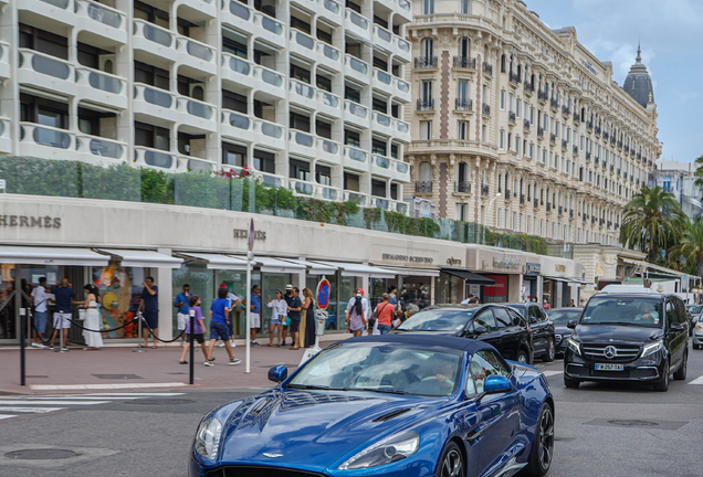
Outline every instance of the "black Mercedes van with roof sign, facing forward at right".
<path fill-rule="evenodd" d="M 675 295 L 598 294 L 578 320 L 568 322 L 564 384 L 581 381 L 651 382 L 669 389 L 669 377 L 686 378 L 689 320 Z"/>

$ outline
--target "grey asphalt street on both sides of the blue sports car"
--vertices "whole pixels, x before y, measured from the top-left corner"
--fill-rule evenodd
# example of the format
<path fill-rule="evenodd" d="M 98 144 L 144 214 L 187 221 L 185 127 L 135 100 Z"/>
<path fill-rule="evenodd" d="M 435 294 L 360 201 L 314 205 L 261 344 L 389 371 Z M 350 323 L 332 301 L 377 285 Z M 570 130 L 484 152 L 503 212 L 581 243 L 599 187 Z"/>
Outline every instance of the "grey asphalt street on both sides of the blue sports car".
<path fill-rule="evenodd" d="M 536 365 L 548 377 L 556 400 L 557 443 L 549 476 L 703 475 L 696 451 L 703 439 L 703 351 L 690 350 L 686 381 L 672 381 L 667 393 L 646 385 L 591 383 L 567 390 L 560 360 Z M 260 391 L 3 395 L 0 476 L 185 476 L 201 416 Z M 46 449 L 53 451 L 42 455 Z"/>

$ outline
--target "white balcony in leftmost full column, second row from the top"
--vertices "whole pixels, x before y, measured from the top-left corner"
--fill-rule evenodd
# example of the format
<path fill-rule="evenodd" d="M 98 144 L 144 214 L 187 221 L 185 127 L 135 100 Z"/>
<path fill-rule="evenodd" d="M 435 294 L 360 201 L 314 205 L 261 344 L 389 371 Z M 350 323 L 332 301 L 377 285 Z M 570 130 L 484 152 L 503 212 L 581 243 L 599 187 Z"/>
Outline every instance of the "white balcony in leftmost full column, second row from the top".
<path fill-rule="evenodd" d="M 61 92 L 75 96 L 74 65 L 44 53 L 29 49 L 18 49 L 20 65 L 18 81 L 21 85 L 31 85 L 41 89 Z"/>

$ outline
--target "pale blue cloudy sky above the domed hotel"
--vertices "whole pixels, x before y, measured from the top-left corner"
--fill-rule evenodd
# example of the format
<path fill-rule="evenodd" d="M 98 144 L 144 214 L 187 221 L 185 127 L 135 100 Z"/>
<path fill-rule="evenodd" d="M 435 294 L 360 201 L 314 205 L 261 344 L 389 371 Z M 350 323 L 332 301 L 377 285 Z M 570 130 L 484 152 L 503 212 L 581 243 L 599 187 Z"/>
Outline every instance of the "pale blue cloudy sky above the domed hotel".
<path fill-rule="evenodd" d="M 612 62 L 619 85 L 642 63 L 654 87 L 661 159 L 703 156 L 703 1 L 524 0 L 550 29 L 575 26 L 576 38 L 600 61 Z"/>

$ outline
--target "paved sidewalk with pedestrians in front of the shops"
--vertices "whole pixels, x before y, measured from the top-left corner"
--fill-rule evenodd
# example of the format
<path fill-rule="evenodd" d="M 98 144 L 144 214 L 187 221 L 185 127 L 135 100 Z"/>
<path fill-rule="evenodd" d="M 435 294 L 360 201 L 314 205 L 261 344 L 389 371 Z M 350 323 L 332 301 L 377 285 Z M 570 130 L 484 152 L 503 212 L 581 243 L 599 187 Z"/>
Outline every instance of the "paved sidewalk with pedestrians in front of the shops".
<path fill-rule="evenodd" d="M 350 335 L 329 335 L 321 347 Z M 288 338 L 288 343 L 291 339 Z M 206 390 L 206 389 L 265 389 L 273 383 L 267 379 L 269 369 L 285 364 L 288 373 L 294 371 L 303 358 L 303 349 L 292 351 L 288 347 L 272 347 L 267 340 L 251 348 L 251 373 L 244 373 L 244 340 L 238 340 L 233 349 L 240 364 L 229 365 L 227 350 L 214 348 L 213 367 L 203 364 L 204 358 L 196 343 L 195 384 L 189 385 L 190 367 L 179 364 L 182 348 L 172 343 L 158 349 L 146 348 L 145 352 L 133 352 L 133 347 L 105 347 L 98 351 L 83 351 L 70 347 L 70 352 L 28 348 L 27 385 L 20 385 L 19 349 L 0 349 L 2 373 L 0 394 L 55 394 L 62 392 L 111 392 L 116 390 L 139 391 L 149 389 Z M 150 344 L 150 341 L 149 341 Z M 186 360 L 189 359 L 190 351 Z"/>

